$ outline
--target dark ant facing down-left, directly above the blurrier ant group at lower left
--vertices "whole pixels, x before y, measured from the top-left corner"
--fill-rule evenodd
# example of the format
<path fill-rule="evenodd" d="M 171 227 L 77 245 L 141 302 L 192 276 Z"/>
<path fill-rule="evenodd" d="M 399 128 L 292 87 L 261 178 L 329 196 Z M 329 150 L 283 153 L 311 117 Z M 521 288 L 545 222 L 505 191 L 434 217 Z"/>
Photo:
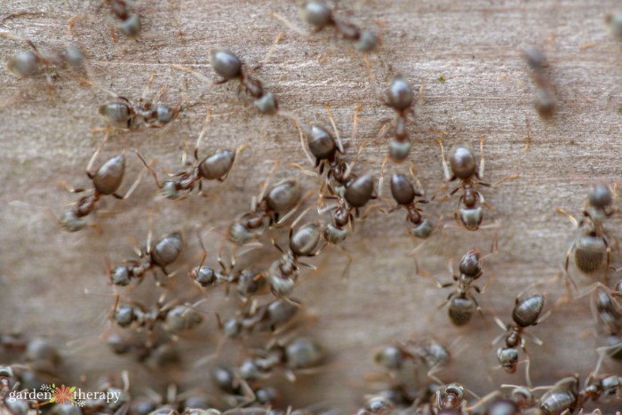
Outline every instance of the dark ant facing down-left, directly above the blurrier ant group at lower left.
<path fill-rule="evenodd" d="M 141 260 L 128 259 L 125 262 L 128 265 L 119 265 L 109 269 L 108 275 L 110 282 L 114 285 L 125 286 L 132 282 L 133 279 L 142 281 L 142 278 L 149 270 L 155 267 L 162 269 L 164 275 L 171 277 L 172 274 L 166 270 L 166 267 L 175 262 L 179 258 L 181 249 L 183 248 L 183 238 L 179 232 L 172 232 L 160 238 L 155 245 L 151 244 L 151 226 L 147 236 L 147 246 L 144 250 L 137 250 L 137 254 Z M 156 278 L 156 284 L 161 285 Z"/>

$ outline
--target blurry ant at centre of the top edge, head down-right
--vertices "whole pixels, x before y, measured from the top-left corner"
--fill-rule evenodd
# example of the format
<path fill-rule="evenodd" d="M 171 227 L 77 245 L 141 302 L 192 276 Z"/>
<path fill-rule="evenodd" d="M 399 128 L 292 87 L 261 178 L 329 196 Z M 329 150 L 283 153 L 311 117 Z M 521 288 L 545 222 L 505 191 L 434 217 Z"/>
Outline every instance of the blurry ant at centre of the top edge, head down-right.
<path fill-rule="evenodd" d="M 343 38 L 353 41 L 355 49 L 360 52 L 372 52 L 378 46 L 379 40 L 370 30 L 362 30 L 354 24 L 345 20 L 339 20 L 335 17 L 331 8 L 320 0 L 310 0 L 305 2 L 302 11 L 303 20 L 315 28 L 316 32 L 320 32 L 323 28 L 329 26 L 335 28 Z M 283 21 L 292 30 L 302 36 L 307 36 L 307 32 L 295 27 L 289 20 L 277 13 L 272 14 L 278 20 Z"/>

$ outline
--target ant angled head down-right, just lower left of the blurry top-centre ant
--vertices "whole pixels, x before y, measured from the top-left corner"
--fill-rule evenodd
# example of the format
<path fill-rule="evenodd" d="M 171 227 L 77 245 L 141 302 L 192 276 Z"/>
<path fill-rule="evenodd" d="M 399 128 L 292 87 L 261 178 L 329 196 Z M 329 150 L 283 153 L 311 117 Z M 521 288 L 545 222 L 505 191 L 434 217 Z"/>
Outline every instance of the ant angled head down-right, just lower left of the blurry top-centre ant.
<path fill-rule="evenodd" d="M 269 60 L 272 55 L 276 44 L 278 44 L 282 38 L 283 33 L 276 36 L 275 43 L 267 52 L 266 58 L 263 62 L 251 70 L 247 69 L 243 61 L 235 56 L 233 52 L 225 49 L 211 51 L 211 66 L 214 68 L 214 71 L 222 77 L 222 79 L 214 82 L 213 84 L 226 84 L 228 81 L 236 79 L 244 90 L 254 99 L 255 108 L 259 110 L 260 114 L 275 115 L 278 111 L 278 102 L 276 101 L 274 94 L 272 92 L 264 91 L 261 81 L 253 78 L 251 74 L 267 64 L 267 60 Z M 211 83 L 205 76 L 195 72 L 192 69 L 179 65 L 173 65 L 173 67 L 186 71 L 203 82 Z"/>

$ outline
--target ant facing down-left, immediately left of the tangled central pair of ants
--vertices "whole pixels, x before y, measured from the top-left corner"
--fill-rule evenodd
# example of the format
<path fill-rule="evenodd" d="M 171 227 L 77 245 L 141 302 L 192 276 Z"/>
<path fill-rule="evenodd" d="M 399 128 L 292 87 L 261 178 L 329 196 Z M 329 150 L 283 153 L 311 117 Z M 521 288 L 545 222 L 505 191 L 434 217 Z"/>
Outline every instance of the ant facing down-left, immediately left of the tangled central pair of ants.
<path fill-rule="evenodd" d="M 228 238 L 238 245 L 257 238 L 266 229 L 266 219 L 269 226 L 278 225 L 288 219 L 304 201 L 301 197 L 302 188 L 298 180 L 288 179 L 276 183 L 269 190 L 267 186 L 274 175 L 276 165 L 268 174 L 266 182 L 259 191 L 259 196 L 253 196 L 251 211 L 243 213 L 229 226 Z M 284 213 L 283 217 L 280 215 Z"/>

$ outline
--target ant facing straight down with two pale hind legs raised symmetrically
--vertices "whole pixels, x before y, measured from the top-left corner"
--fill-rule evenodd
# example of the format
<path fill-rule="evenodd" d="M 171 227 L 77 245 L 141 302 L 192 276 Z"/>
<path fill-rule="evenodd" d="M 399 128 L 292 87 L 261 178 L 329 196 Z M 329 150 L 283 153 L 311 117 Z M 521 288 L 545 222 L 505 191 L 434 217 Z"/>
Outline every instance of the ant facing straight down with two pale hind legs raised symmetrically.
<path fill-rule="evenodd" d="M 506 180 L 514 180 L 518 178 L 517 174 L 513 174 L 504 179 L 498 180 L 494 184 L 484 183 L 482 180 L 484 171 L 484 159 L 483 159 L 483 135 L 480 136 L 480 165 L 479 170 L 477 168 L 477 162 L 473 151 L 468 144 L 459 142 L 453 145 L 450 150 L 450 168 L 447 166 L 445 160 L 445 149 L 443 147 L 443 141 L 436 139 L 441 146 L 441 157 L 443 159 L 443 172 L 445 180 L 454 181 L 460 180 L 460 185 L 451 191 L 449 196 L 453 196 L 456 192 L 462 189 L 462 195 L 458 199 L 458 207 L 454 211 L 454 219 L 456 222 L 462 222 L 462 225 L 467 230 L 475 231 L 480 228 L 483 220 L 482 206 L 477 206 L 478 202 L 481 202 L 484 206 L 491 209 L 489 204 L 486 204 L 482 194 L 477 190 L 478 186 L 484 186 L 487 188 L 495 188 L 499 184 Z M 463 208 L 460 208 L 460 204 L 464 204 Z M 460 222 L 458 221 L 460 219 Z"/>

